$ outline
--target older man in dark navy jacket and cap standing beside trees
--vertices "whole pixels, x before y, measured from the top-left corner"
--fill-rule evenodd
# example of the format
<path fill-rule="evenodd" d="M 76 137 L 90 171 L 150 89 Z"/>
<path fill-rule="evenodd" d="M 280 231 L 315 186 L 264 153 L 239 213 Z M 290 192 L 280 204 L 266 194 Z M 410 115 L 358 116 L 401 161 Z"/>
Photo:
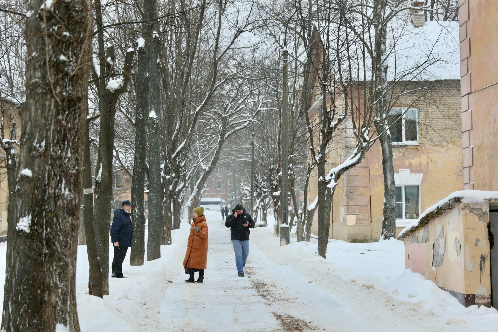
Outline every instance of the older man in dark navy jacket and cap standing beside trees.
<path fill-rule="evenodd" d="M 128 247 L 133 238 L 133 225 L 131 224 L 131 202 L 126 200 L 121 203 L 121 209 L 114 212 L 111 226 L 111 242 L 114 244 L 113 278 L 126 278 L 123 275 L 123 261 Z"/>

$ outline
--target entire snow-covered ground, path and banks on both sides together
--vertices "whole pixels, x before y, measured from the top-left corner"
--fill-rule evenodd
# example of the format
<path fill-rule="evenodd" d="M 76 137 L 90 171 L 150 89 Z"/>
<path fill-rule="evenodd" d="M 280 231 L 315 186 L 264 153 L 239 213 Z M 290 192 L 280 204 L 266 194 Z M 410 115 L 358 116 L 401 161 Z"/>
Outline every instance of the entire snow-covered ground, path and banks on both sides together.
<path fill-rule="evenodd" d="M 206 217 L 204 284 L 183 282 L 187 222 L 172 232 L 172 245 L 161 247 L 160 259 L 129 266 L 128 252 L 127 278 L 110 278 L 111 294 L 104 299 L 86 294 L 88 260 L 85 246 L 79 246 L 81 331 L 489 331 L 498 326 L 495 309 L 464 308 L 420 274 L 405 270 L 401 241 L 331 240 L 323 259 L 313 242 L 291 239 L 280 247 L 269 217 L 268 227 L 251 229 L 247 275 L 240 278 L 230 230 L 218 212 Z M 0 243 L 0 269 L 5 249 Z"/>

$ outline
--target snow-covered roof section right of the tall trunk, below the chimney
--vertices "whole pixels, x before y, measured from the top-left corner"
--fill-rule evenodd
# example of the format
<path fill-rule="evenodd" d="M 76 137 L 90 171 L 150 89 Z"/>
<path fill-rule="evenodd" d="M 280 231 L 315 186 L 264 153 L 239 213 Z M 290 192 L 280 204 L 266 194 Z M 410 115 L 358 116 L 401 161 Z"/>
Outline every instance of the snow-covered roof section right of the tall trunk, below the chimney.
<path fill-rule="evenodd" d="M 387 49 L 388 81 L 460 80 L 457 21 L 427 21 L 417 28 L 405 18 L 395 18 Z"/>

